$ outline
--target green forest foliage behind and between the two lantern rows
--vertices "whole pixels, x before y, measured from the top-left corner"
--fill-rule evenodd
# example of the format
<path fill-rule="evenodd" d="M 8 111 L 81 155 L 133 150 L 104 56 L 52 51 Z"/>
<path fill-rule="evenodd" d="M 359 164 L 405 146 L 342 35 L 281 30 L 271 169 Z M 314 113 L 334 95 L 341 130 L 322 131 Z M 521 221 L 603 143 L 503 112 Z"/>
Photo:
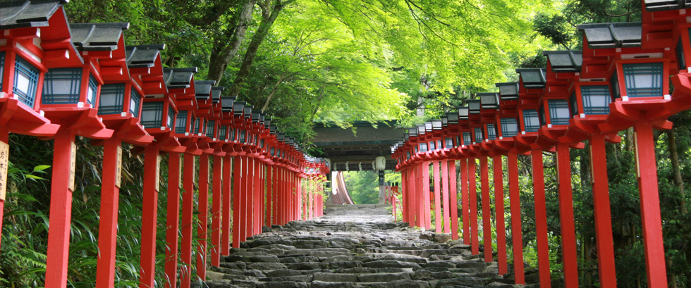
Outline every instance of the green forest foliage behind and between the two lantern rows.
<path fill-rule="evenodd" d="M 262 109 L 279 129 L 309 142 L 314 122 L 348 127 L 353 120 L 398 119 L 406 127 L 438 118 L 476 92 L 496 92 L 495 82 L 518 80 L 515 68 L 544 67 L 543 50 L 580 49 L 578 24 L 640 20 L 641 1 L 73 0 L 65 8 L 71 23 L 129 22 L 127 44 L 167 44 L 166 67 L 200 68 L 195 79 L 216 80 L 226 87 L 224 95 Z M 673 130 L 655 133 L 665 251 L 671 287 L 691 287 L 685 192 L 691 181 L 691 116 L 680 113 L 671 121 Z M 607 146 L 618 284 L 647 287 L 632 130 L 620 136 L 621 143 Z M 50 141 L 11 135 L 0 287 L 44 282 L 51 146 Z M 94 287 L 102 148 L 88 139 L 78 139 L 78 148 L 69 286 Z M 574 150 L 571 158 L 579 276 L 582 287 L 598 287 L 586 151 Z M 545 154 L 551 269 L 558 282 L 558 194 L 554 155 Z M 116 286 L 133 287 L 139 270 L 143 159 L 128 152 L 124 156 Z M 529 158 L 520 158 L 520 169 L 525 260 L 534 266 Z M 161 194 L 159 207 L 165 206 Z M 509 219 L 508 203 L 505 207 Z M 164 211 L 159 209 L 159 267 Z M 162 285 L 159 271 L 157 285 Z"/>

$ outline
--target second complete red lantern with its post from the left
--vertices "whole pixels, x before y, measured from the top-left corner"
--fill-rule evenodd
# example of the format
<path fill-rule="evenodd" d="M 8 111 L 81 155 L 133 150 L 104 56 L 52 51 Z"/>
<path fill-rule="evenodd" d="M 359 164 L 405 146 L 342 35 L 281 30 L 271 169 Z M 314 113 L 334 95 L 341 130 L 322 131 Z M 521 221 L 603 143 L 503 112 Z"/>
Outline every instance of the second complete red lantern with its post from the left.
<path fill-rule="evenodd" d="M 96 283 L 99 287 L 113 287 L 115 277 L 115 252 L 118 225 L 118 199 L 120 192 L 122 142 L 145 146 L 154 140 L 139 118 L 142 111 L 142 95 L 159 93 L 165 87 L 159 51 L 165 45 L 124 46 L 124 37 L 118 40 L 113 61 L 102 61 L 102 66 L 122 68 L 122 74 L 104 75 L 101 88 L 99 116 L 113 137 L 103 144 L 103 175 L 101 192 L 101 220 L 99 222 L 99 258 Z M 126 65 L 123 60 L 127 59 Z M 122 67 L 125 65 L 125 67 Z M 118 67 L 119 66 L 119 67 Z M 128 73 L 126 73 L 128 72 Z M 141 77 L 139 77 L 141 76 Z M 154 87 L 154 88 L 149 88 Z M 165 88 L 164 88 L 165 89 Z"/>

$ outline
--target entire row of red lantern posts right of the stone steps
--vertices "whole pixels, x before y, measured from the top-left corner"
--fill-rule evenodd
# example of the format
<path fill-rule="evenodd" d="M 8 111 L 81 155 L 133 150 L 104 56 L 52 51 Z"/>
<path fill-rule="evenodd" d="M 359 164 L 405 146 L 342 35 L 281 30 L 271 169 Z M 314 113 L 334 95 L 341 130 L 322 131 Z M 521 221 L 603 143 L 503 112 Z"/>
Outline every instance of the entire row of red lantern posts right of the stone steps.
<path fill-rule="evenodd" d="M 664 2 L 664 5 L 661 3 Z M 678 1 L 643 0 L 642 23 L 580 25 L 583 51 L 545 51 L 547 67 L 518 69 L 519 82 L 497 83 L 499 93 L 478 93 L 458 112 L 447 113 L 409 128 L 391 147 L 403 172 L 403 218 L 410 225 L 430 227 L 429 165 L 434 180 L 450 182 L 455 192 L 455 161 L 460 161 L 463 239 L 479 253 L 475 161 L 480 163 L 482 215 L 490 215 L 488 158 L 494 163 L 496 211 L 503 211 L 501 159 L 508 156 L 508 184 L 513 257 L 522 263 L 518 154 L 530 154 L 535 201 L 537 254 L 541 287 L 550 287 L 549 245 L 544 194 L 543 151 L 556 152 L 561 219 L 561 246 L 566 287 L 578 287 L 577 253 L 569 149 L 589 141 L 595 230 L 601 287 L 616 287 L 605 142 L 619 142 L 617 133 L 635 131 L 637 178 L 643 220 L 647 279 L 650 287 L 666 287 L 653 129 L 671 129 L 667 118 L 691 108 L 691 42 L 687 7 Z M 669 80 L 674 84 L 670 94 Z M 439 174 L 437 167 L 448 171 Z M 434 187 L 439 187 L 435 183 Z M 443 185 L 446 197 L 446 184 Z M 446 201 L 446 198 L 444 199 Z M 451 193 L 452 204 L 457 203 Z M 439 204 L 439 201 L 434 203 Z M 439 205 L 437 205 L 439 206 Z M 458 237 L 457 206 L 451 228 Z M 439 215 L 437 208 L 436 215 Z M 496 213 L 500 273 L 507 272 L 503 213 Z M 446 223 L 446 220 L 444 220 Z M 439 222 L 437 222 L 439 223 Z M 483 217 L 485 261 L 492 261 L 491 222 Z M 525 284 L 522 265 L 514 265 L 515 282 Z"/>

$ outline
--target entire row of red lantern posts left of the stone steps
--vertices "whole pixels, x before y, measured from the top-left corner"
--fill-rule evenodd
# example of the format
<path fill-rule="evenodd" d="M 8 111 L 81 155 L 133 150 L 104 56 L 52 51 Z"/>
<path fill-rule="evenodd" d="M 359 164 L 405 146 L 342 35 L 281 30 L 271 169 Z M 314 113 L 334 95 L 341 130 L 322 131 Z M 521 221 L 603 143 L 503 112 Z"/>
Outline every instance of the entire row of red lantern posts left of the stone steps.
<path fill-rule="evenodd" d="M 145 158 L 140 287 L 154 287 L 162 154 L 169 155 L 166 287 L 176 287 L 179 227 L 181 261 L 187 264 L 180 282 L 190 286 L 197 177 L 197 275 L 205 277 L 209 158 L 214 163 L 213 265 L 219 265 L 220 255 L 228 255 L 231 230 L 232 246 L 238 247 L 260 233 L 262 225 L 300 218 L 301 179 L 312 177 L 310 168 L 328 173 L 323 159 L 307 157 L 261 111 L 221 97 L 223 87 L 214 87 L 214 81 L 195 80 L 197 68 L 163 68 L 164 44 L 126 46 L 123 30 L 128 23 L 70 24 L 64 3 L 0 3 L 0 14 L 8 15 L 0 25 L 0 211 L 6 198 L 8 133 L 54 139 L 45 287 L 67 284 L 76 136 L 104 146 L 97 287 L 114 285 L 123 142 L 133 144 L 133 154 Z M 195 175 L 195 157 L 200 175 Z M 321 209 L 316 205 L 321 199 L 315 201 L 310 201 L 310 208 Z M 317 215 L 319 211 L 314 208 Z"/>

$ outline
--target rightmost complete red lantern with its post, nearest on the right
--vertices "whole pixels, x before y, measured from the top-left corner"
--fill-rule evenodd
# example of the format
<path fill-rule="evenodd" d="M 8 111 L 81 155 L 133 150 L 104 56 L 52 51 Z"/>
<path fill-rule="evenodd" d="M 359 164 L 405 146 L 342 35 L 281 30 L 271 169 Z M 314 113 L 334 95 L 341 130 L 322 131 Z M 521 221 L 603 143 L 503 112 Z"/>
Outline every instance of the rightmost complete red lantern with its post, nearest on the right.
<path fill-rule="evenodd" d="M 685 13 L 686 10 L 683 11 Z M 667 80 L 671 73 L 686 68 L 686 65 L 680 64 L 686 64 L 685 55 L 689 50 L 685 49 L 688 47 L 688 41 L 670 41 L 677 32 L 686 33 L 679 38 L 680 40 L 688 35 L 688 26 L 683 20 L 685 15 L 680 16 L 678 11 L 658 12 L 657 15 L 662 16 L 662 19 L 666 18 L 664 15 L 675 19 L 666 19 L 668 22 L 664 23 L 664 26 L 674 27 L 676 31 L 670 35 L 667 31 L 647 29 L 643 35 L 640 23 L 580 25 L 579 29 L 585 31 L 584 58 L 591 56 L 591 53 L 595 55 L 593 58 L 604 60 L 606 57 L 606 73 L 611 75 L 609 79 L 614 101 L 609 105 L 609 117 L 605 123 L 599 125 L 599 129 L 602 132 L 618 132 L 631 125 L 634 127 L 647 277 L 651 287 L 666 287 L 666 264 L 652 129 L 671 129 L 672 123 L 666 118 L 680 111 L 678 109 L 690 107 L 686 104 L 687 101 L 681 98 L 672 99 Z M 647 28 L 656 24 L 650 21 L 653 19 L 657 20 L 649 14 L 644 16 L 644 20 L 648 21 Z M 681 27 L 668 26 L 675 22 L 684 24 Z M 605 39 L 603 32 L 615 33 L 617 37 L 614 41 Z M 610 37 L 609 33 L 605 36 Z M 645 46 L 642 49 L 639 46 L 642 46 L 643 39 Z M 654 43 L 657 39 L 660 40 L 659 43 Z M 676 51 L 668 44 L 677 44 Z M 677 58 L 677 65 L 673 65 L 674 58 Z M 678 79 L 680 78 L 675 78 Z M 684 90 L 683 83 L 675 81 L 675 84 L 680 84 L 680 87 L 683 87 L 682 91 Z"/>

